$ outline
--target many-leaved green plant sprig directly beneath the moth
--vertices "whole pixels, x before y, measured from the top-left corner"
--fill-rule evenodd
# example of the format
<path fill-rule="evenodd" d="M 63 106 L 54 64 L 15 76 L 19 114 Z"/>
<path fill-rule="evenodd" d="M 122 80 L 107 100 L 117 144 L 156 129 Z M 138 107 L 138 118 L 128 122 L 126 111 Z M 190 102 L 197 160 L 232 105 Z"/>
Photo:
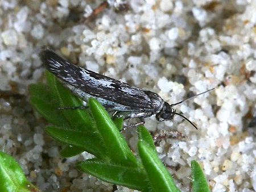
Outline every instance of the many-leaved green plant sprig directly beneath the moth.
<path fill-rule="evenodd" d="M 47 126 L 46 132 L 67 145 L 60 152 L 62 156 L 71 157 L 83 151 L 91 153 L 94 158 L 77 162 L 76 166 L 102 181 L 140 191 L 179 191 L 158 158 L 146 128 L 138 127 L 138 158 L 119 132 L 122 119 L 113 122 L 96 99 L 89 99 L 89 110 L 56 110 L 60 106 L 81 106 L 82 101 L 65 89 L 55 76 L 49 72 L 46 76 L 48 85 L 30 85 L 30 100 L 32 106 L 54 125 Z"/>

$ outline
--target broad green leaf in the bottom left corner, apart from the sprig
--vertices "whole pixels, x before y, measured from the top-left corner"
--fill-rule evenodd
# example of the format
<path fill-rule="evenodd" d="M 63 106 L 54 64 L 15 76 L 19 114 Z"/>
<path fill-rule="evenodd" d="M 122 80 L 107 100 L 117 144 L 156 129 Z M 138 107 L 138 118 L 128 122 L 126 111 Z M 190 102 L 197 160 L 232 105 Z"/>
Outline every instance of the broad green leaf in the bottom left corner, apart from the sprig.
<path fill-rule="evenodd" d="M 0 191 L 39 191 L 24 176 L 18 162 L 2 151 L 0 151 Z"/>

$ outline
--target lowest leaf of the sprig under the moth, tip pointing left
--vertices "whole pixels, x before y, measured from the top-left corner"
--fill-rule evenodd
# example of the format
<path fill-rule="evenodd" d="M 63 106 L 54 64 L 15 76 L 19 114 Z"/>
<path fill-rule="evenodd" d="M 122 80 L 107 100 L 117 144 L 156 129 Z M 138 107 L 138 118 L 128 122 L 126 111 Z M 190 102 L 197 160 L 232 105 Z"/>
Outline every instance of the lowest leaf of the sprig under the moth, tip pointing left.
<path fill-rule="evenodd" d="M 146 173 L 142 169 L 116 165 L 97 159 L 79 162 L 76 165 L 77 168 L 100 178 L 102 181 L 131 189 L 151 191 Z"/>

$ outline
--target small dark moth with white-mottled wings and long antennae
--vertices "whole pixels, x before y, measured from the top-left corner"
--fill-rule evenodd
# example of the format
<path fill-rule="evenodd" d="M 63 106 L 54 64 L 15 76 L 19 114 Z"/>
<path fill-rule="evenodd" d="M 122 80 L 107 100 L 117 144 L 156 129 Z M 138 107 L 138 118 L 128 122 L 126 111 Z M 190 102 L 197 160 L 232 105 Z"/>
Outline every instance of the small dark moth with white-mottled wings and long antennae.
<path fill-rule="evenodd" d="M 172 107 L 214 89 L 170 105 L 152 91 L 142 90 L 125 82 L 80 68 L 49 49 L 43 50 L 40 57 L 47 70 L 58 77 L 65 87 L 83 101 L 88 101 L 90 97 L 93 97 L 108 110 L 121 112 L 119 116 L 123 116 L 124 119 L 140 119 L 140 122 L 130 124 L 129 127 L 144 124 L 144 118 L 152 115 L 155 115 L 159 122 L 171 120 L 174 115 L 179 115 L 197 129 L 192 122 Z M 60 108 L 86 108 L 86 106 Z"/>

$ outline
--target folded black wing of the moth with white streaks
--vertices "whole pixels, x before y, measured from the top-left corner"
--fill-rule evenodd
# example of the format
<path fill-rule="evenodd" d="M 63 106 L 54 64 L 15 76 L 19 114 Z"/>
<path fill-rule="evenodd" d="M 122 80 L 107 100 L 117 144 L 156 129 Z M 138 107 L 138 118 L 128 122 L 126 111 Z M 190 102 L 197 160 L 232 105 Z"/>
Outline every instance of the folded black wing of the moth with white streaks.
<path fill-rule="evenodd" d="M 94 97 L 113 110 L 152 112 L 159 110 L 163 103 L 158 94 L 80 68 L 48 49 L 41 53 L 41 59 L 49 72 L 84 101 Z"/>

